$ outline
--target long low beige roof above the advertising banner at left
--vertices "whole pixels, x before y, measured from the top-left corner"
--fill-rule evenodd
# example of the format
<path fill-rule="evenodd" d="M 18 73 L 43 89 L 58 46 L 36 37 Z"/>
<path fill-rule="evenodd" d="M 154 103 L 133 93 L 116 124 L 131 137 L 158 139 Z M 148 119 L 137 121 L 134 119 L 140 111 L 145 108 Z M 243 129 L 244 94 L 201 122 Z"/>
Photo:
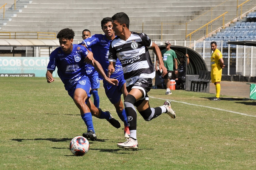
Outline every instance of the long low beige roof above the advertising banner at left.
<path fill-rule="evenodd" d="M 58 39 L 0 39 L 0 46 L 5 47 L 52 47 L 59 45 Z"/>

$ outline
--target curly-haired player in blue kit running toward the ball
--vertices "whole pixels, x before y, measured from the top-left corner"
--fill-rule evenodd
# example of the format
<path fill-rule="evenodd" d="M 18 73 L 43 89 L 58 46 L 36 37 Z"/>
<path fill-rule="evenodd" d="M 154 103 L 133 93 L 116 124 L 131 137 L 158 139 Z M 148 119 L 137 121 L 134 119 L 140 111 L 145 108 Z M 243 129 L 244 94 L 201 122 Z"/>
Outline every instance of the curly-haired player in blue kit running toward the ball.
<path fill-rule="evenodd" d="M 108 83 L 117 85 L 118 81 L 108 78 L 99 62 L 87 57 L 88 51 L 84 46 L 73 44 L 74 36 L 74 31 L 68 28 L 60 30 L 57 34 L 60 47 L 56 48 L 50 55 L 46 79 L 48 83 L 54 81 L 52 73 L 57 67 L 57 73 L 64 83 L 65 89 L 79 108 L 82 119 L 87 126 L 87 133 L 83 133 L 83 137 L 96 140 L 97 137 L 92 123 L 92 115 L 99 119 L 106 119 L 116 128 L 120 128 L 120 123 L 108 111 L 103 112 L 100 108 L 96 108 L 90 100 L 89 91 L 91 84 L 89 78 L 85 75 L 84 61 L 94 65 L 95 69 Z"/>

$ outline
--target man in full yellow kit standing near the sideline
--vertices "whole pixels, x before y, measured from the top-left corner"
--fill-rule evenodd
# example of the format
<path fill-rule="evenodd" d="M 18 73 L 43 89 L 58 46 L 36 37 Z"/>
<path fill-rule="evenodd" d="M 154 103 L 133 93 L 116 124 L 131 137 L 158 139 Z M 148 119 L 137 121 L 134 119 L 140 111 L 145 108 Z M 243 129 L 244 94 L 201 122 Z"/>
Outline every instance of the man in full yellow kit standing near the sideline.
<path fill-rule="evenodd" d="M 215 84 L 216 96 L 212 100 L 220 100 L 220 81 L 222 69 L 225 67 L 222 53 L 217 49 L 217 43 L 211 42 L 211 82 Z"/>

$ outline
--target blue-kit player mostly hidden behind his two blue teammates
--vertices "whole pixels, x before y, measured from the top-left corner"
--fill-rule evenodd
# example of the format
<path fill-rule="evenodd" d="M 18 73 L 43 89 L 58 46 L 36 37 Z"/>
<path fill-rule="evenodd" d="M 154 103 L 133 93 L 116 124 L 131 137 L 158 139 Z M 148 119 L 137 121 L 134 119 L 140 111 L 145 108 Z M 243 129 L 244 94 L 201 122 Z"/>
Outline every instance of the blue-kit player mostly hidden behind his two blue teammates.
<path fill-rule="evenodd" d="M 83 40 L 89 38 L 91 36 L 91 32 L 88 29 L 83 30 L 82 32 L 82 38 Z M 82 43 L 78 44 L 82 45 Z M 92 51 L 90 48 L 88 49 L 89 51 Z M 98 95 L 98 88 L 99 88 L 99 74 L 98 72 L 94 69 L 94 67 L 87 63 L 85 65 L 85 70 L 86 70 L 86 75 L 89 77 L 90 82 L 91 82 L 91 90 L 90 94 L 93 96 L 93 103 L 96 107 L 99 107 L 99 95 Z"/>

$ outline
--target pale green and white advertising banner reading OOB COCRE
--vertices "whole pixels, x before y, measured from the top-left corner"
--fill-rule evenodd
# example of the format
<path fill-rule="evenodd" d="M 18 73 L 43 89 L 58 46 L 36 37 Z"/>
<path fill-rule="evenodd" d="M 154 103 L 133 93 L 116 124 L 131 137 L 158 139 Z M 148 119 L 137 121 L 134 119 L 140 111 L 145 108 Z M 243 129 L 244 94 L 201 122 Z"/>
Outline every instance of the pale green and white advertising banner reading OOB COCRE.
<path fill-rule="evenodd" d="M 0 77 L 45 77 L 48 63 L 49 57 L 0 57 Z"/>

